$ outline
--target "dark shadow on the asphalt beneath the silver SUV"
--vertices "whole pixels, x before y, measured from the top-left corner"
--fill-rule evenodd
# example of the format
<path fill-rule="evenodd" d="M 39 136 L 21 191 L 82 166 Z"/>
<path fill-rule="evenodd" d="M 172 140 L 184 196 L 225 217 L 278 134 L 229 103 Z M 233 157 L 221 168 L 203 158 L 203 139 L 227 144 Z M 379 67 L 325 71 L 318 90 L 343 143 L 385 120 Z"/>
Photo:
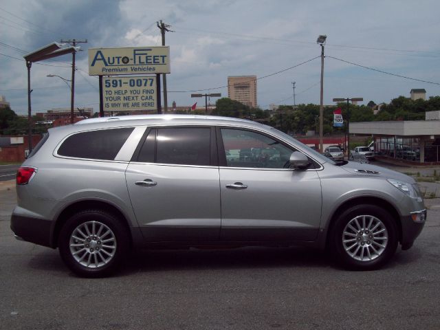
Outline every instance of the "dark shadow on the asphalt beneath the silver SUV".
<path fill-rule="evenodd" d="M 402 265 L 417 263 L 422 256 L 417 248 L 410 252 L 398 250 L 381 270 L 391 270 Z M 58 250 L 36 253 L 28 262 L 33 270 L 51 272 L 52 275 L 70 274 Z M 256 268 L 296 269 L 322 268 L 333 272 L 350 272 L 336 264 L 328 253 L 303 247 L 289 248 L 229 248 L 188 250 L 137 250 L 131 252 L 114 275 L 131 276 L 133 273 L 179 272 L 187 270 L 240 270 Z"/>

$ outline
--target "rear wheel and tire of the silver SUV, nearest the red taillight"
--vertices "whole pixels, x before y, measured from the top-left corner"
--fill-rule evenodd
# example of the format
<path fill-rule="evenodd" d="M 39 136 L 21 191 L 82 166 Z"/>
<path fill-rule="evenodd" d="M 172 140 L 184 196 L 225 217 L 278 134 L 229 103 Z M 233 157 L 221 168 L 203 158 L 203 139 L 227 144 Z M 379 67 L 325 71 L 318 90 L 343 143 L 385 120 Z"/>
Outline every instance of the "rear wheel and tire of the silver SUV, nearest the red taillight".
<path fill-rule="evenodd" d="M 97 278 L 115 272 L 129 252 L 126 227 L 109 212 L 85 210 L 67 220 L 58 236 L 61 259 L 81 277 Z"/>

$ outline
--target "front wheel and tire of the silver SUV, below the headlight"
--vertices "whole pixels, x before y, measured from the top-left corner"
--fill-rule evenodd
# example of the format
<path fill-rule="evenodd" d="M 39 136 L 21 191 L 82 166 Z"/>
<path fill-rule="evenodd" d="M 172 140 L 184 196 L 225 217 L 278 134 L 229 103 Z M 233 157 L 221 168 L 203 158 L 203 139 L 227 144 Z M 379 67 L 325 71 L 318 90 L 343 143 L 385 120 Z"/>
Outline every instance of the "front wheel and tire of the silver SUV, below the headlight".
<path fill-rule="evenodd" d="M 395 254 L 397 225 L 386 210 L 363 204 L 336 219 L 329 243 L 333 259 L 352 270 L 376 270 Z"/>

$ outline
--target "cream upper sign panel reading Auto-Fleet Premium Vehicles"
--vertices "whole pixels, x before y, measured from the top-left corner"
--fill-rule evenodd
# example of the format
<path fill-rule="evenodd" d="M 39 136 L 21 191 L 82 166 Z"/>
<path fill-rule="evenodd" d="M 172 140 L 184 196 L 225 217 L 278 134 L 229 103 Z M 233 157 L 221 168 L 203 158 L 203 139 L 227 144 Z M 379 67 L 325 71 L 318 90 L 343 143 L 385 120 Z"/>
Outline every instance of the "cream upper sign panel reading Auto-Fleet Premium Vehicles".
<path fill-rule="evenodd" d="M 169 47 L 122 47 L 89 49 L 90 76 L 169 73 Z"/>

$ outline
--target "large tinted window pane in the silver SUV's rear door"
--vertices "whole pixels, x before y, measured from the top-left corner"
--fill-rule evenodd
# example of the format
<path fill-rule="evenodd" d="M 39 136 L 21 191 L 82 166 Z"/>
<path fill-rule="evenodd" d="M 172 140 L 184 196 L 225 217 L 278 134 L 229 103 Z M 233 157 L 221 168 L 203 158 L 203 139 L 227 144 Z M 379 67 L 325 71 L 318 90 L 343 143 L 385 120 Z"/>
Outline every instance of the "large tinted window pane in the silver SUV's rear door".
<path fill-rule="evenodd" d="M 210 128 L 157 129 L 156 162 L 210 165 Z"/>

